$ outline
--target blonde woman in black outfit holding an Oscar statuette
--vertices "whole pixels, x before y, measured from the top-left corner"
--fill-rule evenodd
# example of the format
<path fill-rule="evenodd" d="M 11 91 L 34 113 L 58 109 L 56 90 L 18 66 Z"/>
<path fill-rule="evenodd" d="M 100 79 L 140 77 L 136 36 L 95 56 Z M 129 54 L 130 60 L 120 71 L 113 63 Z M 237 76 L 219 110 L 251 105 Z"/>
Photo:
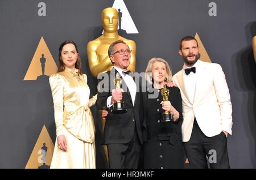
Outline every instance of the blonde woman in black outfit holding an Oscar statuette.
<path fill-rule="evenodd" d="M 169 101 L 162 101 L 161 89 L 166 82 L 172 80 L 168 63 L 162 58 L 152 58 L 146 68 L 146 80 L 158 94 L 156 93 L 156 98 L 152 98 L 154 91 L 148 90 L 143 93 L 144 124 L 146 124 L 142 153 L 144 168 L 183 168 L 184 151 L 181 136 L 183 117 L 179 88 L 167 87 L 170 90 Z M 171 112 L 174 121 L 160 122 L 163 110 Z"/>

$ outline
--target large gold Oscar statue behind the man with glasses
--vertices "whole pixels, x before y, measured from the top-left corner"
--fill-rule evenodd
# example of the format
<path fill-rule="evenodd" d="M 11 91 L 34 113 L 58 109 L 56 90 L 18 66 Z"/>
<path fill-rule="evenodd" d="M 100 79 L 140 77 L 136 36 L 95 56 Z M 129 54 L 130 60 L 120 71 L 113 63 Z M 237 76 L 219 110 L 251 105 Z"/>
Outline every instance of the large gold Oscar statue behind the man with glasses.
<path fill-rule="evenodd" d="M 87 45 L 87 55 L 90 72 L 94 77 L 100 72 L 109 71 L 113 65 L 109 59 L 108 49 L 109 45 L 116 40 L 123 40 L 133 51 L 131 53 L 130 66 L 128 70 L 135 72 L 136 64 L 136 44 L 133 40 L 127 40 L 118 35 L 118 12 L 115 8 L 108 7 L 102 11 L 101 14 L 102 26 L 104 33 L 102 36 L 96 38 L 96 40 L 90 41 Z"/>

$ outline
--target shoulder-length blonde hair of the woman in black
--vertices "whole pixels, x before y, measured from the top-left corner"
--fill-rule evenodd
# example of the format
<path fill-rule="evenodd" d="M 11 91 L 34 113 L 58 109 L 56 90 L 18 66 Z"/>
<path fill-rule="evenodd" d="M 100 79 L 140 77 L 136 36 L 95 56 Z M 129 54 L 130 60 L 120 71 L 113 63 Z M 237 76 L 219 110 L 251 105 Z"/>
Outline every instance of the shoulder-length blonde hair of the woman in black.
<path fill-rule="evenodd" d="M 147 68 L 145 71 L 145 78 L 147 82 L 152 84 L 152 68 L 155 62 L 162 62 L 164 65 L 166 65 L 166 81 L 171 82 L 172 81 L 172 71 L 168 64 L 168 62 L 162 58 L 152 58 L 150 61 L 148 61 Z"/>

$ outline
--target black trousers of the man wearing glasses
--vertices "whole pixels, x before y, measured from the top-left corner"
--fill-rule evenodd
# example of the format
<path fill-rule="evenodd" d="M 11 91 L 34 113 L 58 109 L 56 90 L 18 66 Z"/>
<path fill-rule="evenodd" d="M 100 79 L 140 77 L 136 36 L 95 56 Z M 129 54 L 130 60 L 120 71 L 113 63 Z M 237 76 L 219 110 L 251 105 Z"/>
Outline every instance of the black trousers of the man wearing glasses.
<path fill-rule="evenodd" d="M 110 169 L 137 169 L 141 156 L 141 142 L 135 128 L 127 144 L 107 144 Z"/>

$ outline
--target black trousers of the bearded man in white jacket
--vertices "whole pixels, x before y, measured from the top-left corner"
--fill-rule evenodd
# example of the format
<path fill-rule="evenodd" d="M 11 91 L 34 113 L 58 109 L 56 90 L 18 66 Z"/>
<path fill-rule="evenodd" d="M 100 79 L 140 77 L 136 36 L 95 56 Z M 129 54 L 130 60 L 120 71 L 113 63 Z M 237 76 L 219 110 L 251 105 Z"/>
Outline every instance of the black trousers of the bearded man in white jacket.
<path fill-rule="evenodd" d="M 207 157 L 210 168 L 230 168 L 227 139 L 224 132 L 207 137 L 200 130 L 196 118 L 193 124 L 191 138 L 183 143 L 191 168 L 208 168 Z"/>

